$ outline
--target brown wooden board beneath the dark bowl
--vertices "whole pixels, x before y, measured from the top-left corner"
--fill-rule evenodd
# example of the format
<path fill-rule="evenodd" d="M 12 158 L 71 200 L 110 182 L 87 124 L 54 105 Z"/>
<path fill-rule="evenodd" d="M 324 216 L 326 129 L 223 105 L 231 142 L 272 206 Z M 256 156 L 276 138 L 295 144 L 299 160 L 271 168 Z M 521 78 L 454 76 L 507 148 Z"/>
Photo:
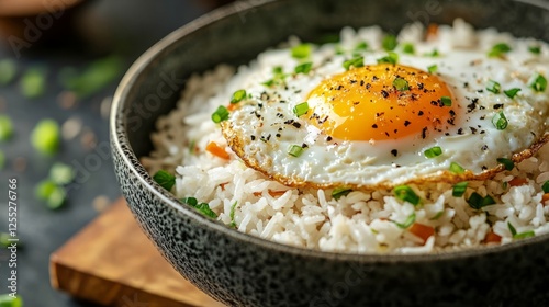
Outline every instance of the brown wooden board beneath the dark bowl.
<path fill-rule="evenodd" d="M 104 306 L 223 306 L 186 281 L 120 200 L 49 259 L 53 287 Z"/>

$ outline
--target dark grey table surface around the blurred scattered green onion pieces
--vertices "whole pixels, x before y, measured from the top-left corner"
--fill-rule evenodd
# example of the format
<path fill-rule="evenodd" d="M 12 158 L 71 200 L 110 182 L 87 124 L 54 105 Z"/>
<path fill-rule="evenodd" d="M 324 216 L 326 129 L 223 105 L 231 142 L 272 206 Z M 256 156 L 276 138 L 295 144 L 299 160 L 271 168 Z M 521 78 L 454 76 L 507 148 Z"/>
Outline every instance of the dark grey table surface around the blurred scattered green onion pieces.
<path fill-rule="evenodd" d="M 25 22 L 42 22 L 44 26 L 37 33 L 26 33 L 35 36 L 0 27 L 0 59 L 10 58 L 18 68 L 12 82 L 0 86 L 0 114 L 8 114 L 14 127 L 11 139 L 0 141 L 0 151 L 5 155 L 0 172 L 0 231 L 8 231 L 8 181 L 15 178 L 21 243 L 16 291 L 25 307 L 94 306 L 52 288 L 48 258 L 121 195 L 109 152 L 110 99 L 122 73 L 143 52 L 210 9 L 212 3 L 199 0 L 97 0 L 64 11 L 59 19 L 58 14 L 51 15 L 51 24 L 35 16 L 16 21 L 24 24 L 23 31 L 30 31 Z M 113 53 L 122 58 L 123 69 L 107 87 L 75 100 L 60 86 L 58 77 L 65 68 L 83 68 Z M 20 80 L 32 67 L 47 71 L 47 88 L 40 98 L 26 99 Z M 57 121 L 63 130 L 60 150 L 52 157 L 40 155 L 31 146 L 31 130 L 43 118 Z M 67 186 L 67 203 L 52 211 L 36 200 L 34 189 L 55 161 L 71 166 L 76 179 Z M 10 255 L 7 249 L 0 251 L 0 294 L 10 292 Z"/>

